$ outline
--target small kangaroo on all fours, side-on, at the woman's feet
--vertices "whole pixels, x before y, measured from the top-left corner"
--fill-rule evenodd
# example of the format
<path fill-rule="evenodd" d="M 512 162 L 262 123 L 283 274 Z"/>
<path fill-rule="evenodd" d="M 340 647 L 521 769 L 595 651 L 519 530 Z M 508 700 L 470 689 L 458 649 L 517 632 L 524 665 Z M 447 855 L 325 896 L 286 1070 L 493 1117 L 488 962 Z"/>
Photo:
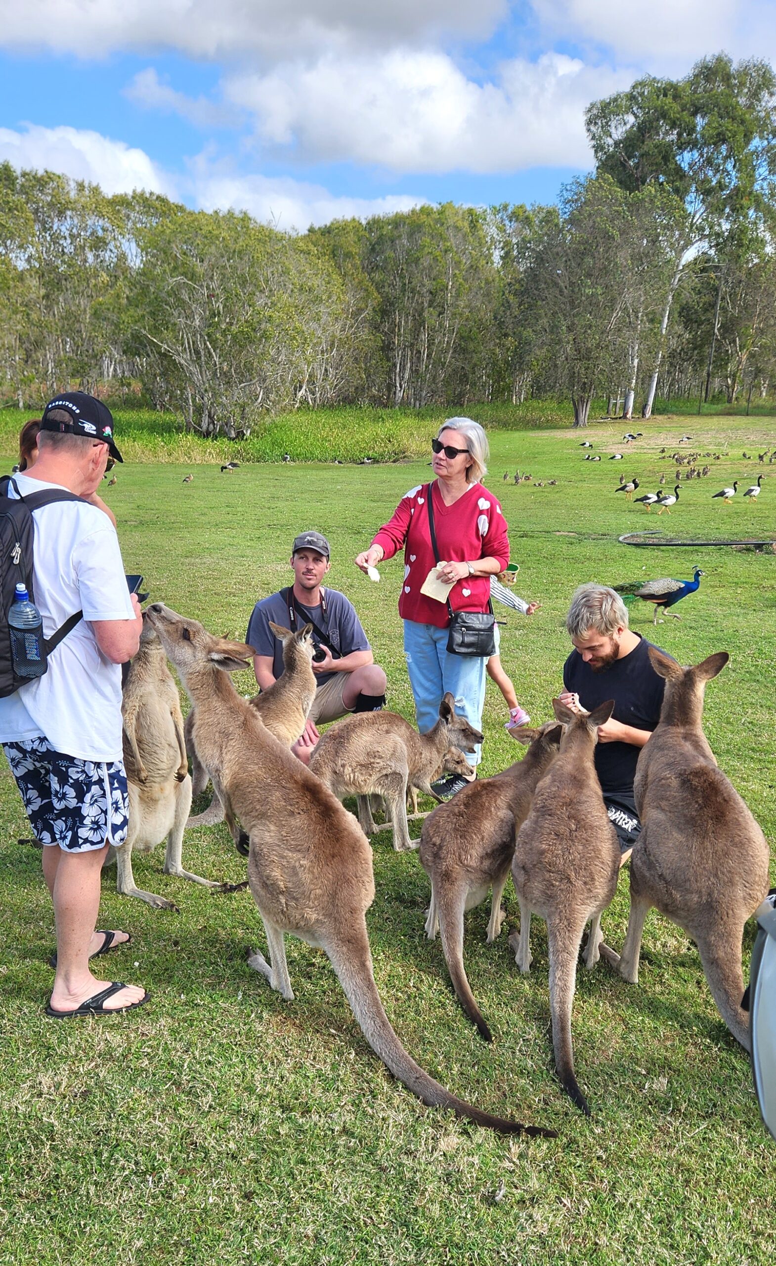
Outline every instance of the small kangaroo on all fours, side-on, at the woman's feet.
<path fill-rule="evenodd" d="M 456 700 L 448 693 L 439 704 L 439 720 L 419 734 L 396 713 L 357 713 L 332 725 L 310 757 L 310 768 L 342 799 L 358 796 L 358 822 L 365 834 L 376 830 L 370 794 L 385 798 L 394 825 L 394 848 L 416 848 L 406 822 L 408 786 L 418 787 L 434 800 L 430 779 L 449 747 L 471 748 L 482 734 L 466 717 L 458 717 Z"/>

